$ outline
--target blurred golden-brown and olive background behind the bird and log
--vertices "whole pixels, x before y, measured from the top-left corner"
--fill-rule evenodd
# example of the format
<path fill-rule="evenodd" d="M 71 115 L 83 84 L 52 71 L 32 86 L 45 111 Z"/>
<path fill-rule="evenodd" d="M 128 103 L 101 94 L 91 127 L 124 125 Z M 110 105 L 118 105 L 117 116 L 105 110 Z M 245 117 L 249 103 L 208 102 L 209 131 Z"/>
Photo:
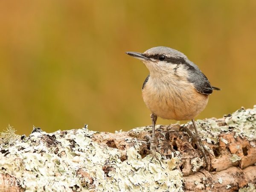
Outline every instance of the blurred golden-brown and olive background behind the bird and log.
<path fill-rule="evenodd" d="M 183 52 L 221 87 L 198 119 L 253 108 L 255 10 L 255 0 L 1 1 L 0 131 L 150 125 L 148 70 L 125 52 L 156 46 Z"/>

